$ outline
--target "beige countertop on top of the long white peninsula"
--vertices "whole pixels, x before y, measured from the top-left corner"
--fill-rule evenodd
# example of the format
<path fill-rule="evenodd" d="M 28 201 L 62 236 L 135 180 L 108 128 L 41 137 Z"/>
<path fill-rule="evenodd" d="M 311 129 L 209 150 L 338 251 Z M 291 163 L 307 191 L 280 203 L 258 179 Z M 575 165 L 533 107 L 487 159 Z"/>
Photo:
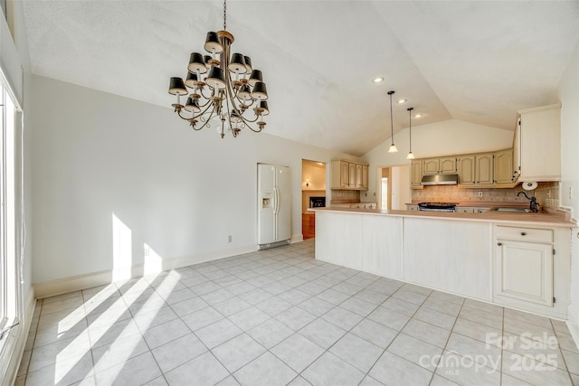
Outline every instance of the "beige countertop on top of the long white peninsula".
<path fill-rule="evenodd" d="M 520 225 L 543 225 L 551 227 L 575 228 L 577 224 L 568 219 L 568 213 L 563 211 L 539 213 L 513 212 L 484 212 L 484 213 L 457 213 L 457 212 L 416 212 L 416 211 L 386 211 L 380 209 L 348 209 L 348 208 L 311 208 L 313 212 L 347 212 L 369 215 L 384 215 L 396 217 L 419 217 L 448 221 L 482 221 L 496 223 L 517 223 Z"/>

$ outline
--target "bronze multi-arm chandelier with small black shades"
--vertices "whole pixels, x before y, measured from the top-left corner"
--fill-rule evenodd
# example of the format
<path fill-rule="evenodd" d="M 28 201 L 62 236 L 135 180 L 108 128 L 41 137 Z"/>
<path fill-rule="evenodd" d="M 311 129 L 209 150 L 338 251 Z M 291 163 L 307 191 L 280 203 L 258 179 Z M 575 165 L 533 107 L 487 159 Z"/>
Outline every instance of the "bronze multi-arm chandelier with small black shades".
<path fill-rule="evenodd" d="M 249 56 L 230 53 L 234 39 L 227 32 L 226 13 L 224 0 L 223 31 L 209 32 L 205 40 L 204 49 L 209 55 L 192 52 L 185 81 L 173 77 L 169 82 L 169 94 L 176 95 L 176 103 L 171 106 L 177 115 L 197 131 L 214 125 L 222 138 L 227 131 L 237 137 L 245 127 L 259 133 L 266 125 L 263 117 L 270 114 L 261 71 L 253 70 Z M 180 99 L 185 95 L 182 105 Z M 249 110 L 252 118 L 244 115 Z"/>

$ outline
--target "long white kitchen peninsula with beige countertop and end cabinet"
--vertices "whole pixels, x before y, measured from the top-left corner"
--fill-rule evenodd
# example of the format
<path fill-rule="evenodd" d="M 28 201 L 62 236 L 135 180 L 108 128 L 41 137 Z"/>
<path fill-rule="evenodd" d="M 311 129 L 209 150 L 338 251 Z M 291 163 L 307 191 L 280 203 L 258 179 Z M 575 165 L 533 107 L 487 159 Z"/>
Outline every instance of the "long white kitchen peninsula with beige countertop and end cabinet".
<path fill-rule="evenodd" d="M 316 259 L 567 318 L 576 224 L 565 212 L 315 212 Z"/>

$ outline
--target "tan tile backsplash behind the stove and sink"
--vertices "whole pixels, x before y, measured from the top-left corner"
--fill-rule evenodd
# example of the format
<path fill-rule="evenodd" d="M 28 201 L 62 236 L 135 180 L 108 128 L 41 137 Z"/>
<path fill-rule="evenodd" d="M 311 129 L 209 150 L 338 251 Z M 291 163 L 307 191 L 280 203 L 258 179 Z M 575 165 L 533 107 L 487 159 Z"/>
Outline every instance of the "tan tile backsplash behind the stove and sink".
<path fill-rule="evenodd" d="M 518 192 L 523 191 L 520 185 L 512 189 L 471 189 L 455 185 L 424 186 L 422 190 L 413 190 L 413 202 L 528 202 Z M 526 192 L 526 191 L 525 191 Z M 479 196 L 482 193 L 482 196 Z M 539 183 L 534 191 L 526 192 L 535 196 L 536 202 L 549 208 L 559 207 L 559 183 Z"/>

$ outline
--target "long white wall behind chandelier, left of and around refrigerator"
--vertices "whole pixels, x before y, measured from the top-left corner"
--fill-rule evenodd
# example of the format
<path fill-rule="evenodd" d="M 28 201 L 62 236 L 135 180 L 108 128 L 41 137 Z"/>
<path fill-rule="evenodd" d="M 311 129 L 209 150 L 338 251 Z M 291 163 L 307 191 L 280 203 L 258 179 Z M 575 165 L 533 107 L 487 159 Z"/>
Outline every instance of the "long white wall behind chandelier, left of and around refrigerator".
<path fill-rule="evenodd" d="M 249 130 L 222 139 L 172 108 L 39 76 L 33 84 L 34 283 L 109 272 L 113 214 L 133 275 L 145 244 L 164 268 L 256 249 L 260 162 L 290 167 L 299 239 L 302 158 L 351 157 Z"/>

